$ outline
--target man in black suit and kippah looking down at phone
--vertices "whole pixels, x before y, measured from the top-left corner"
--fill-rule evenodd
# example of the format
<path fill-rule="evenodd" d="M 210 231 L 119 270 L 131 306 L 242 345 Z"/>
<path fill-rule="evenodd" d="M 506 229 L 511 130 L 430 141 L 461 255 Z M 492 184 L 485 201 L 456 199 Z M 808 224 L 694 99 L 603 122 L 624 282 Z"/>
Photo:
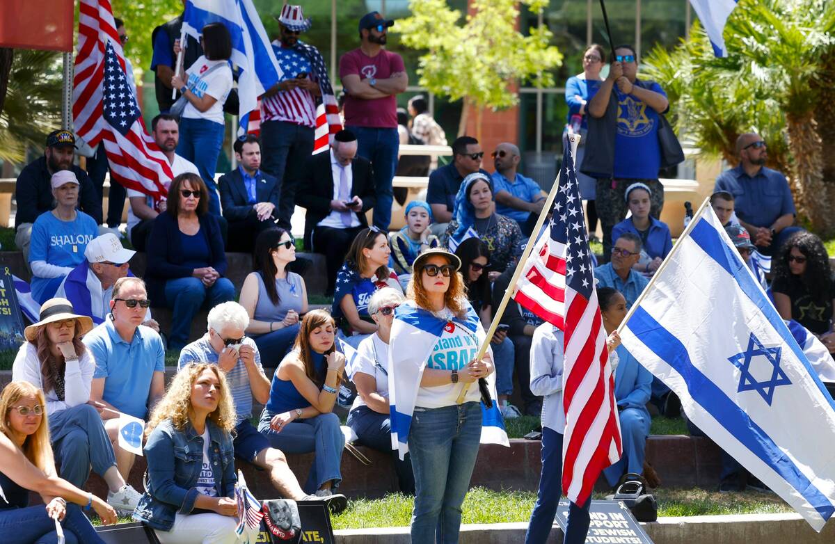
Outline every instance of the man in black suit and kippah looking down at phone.
<path fill-rule="evenodd" d="M 357 136 L 341 130 L 328 153 L 309 159 L 306 176 L 296 194 L 296 203 L 307 209 L 305 246 L 325 254 L 326 295 L 333 295 L 337 271 L 377 201 L 371 163 L 357 157 Z"/>

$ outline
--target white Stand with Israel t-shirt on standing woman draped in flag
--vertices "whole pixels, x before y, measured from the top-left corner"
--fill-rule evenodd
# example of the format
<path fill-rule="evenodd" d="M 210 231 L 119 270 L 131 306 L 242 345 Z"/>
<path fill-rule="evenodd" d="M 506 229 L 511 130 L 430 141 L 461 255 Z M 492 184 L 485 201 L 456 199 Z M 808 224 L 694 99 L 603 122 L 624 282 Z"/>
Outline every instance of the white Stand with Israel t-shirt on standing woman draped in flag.
<path fill-rule="evenodd" d="M 429 354 L 426 368 L 458 370 L 460 374 L 477 353 L 478 337 L 461 325 L 449 321 L 432 353 Z M 461 381 L 457 384 L 435 385 L 433 387 L 422 385 L 417 390 L 415 405 L 423 406 L 423 408 L 443 408 L 443 406 L 455 405 L 463 386 L 464 384 Z M 467 396 L 464 397 L 464 402 L 470 400 L 481 400 L 481 392 L 478 390 L 477 382 L 469 385 Z"/>

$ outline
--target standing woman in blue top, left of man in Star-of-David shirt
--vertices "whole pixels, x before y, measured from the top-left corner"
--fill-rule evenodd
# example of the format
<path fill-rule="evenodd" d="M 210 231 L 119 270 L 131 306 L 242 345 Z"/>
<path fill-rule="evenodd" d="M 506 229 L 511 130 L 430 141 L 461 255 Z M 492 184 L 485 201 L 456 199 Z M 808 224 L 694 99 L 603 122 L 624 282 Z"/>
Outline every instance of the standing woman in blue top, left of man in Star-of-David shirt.
<path fill-rule="evenodd" d="M 592 43 L 583 53 L 583 73 L 571 76 L 565 82 L 565 102 L 569 105 L 568 123 L 574 133 L 579 132 L 582 137 L 577 147 L 574 164 L 577 166 L 577 181 L 579 182 L 579 197 L 588 200 L 586 214 L 589 217 L 589 232 L 597 229 L 597 212 L 595 210 L 595 179 L 580 174 L 579 165 L 583 164 L 586 136 L 586 103 L 595 96 L 602 82 L 600 70 L 603 68 L 606 55 L 603 48 Z"/>

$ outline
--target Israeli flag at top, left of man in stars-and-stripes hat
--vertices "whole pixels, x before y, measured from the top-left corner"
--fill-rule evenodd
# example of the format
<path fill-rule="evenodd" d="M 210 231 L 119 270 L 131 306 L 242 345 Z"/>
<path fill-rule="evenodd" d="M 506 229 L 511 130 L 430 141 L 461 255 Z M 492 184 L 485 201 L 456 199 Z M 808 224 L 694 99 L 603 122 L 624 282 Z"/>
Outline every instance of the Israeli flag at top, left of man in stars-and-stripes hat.
<path fill-rule="evenodd" d="M 209 23 L 223 23 L 231 34 L 230 60 L 240 69 L 240 136 L 249 127 L 250 113 L 258 109 L 258 97 L 278 83 L 284 73 L 252 0 L 187 0 L 183 33 L 200 39 L 203 27 Z"/>

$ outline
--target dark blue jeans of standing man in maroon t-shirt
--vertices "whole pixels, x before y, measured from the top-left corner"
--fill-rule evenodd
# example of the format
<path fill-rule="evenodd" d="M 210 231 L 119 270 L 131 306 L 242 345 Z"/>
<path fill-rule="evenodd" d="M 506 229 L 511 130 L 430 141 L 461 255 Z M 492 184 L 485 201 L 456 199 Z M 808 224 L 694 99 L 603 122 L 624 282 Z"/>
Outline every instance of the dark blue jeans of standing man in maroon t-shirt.
<path fill-rule="evenodd" d="M 377 204 L 374 204 L 374 226 L 388 230 L 392 222 L 392 179 L 397 169 L 397 151 L 400 138 L 397 128 L 346 127 L 357 134 L 357 155 L 371 161 L 374 170 L 374 192 Z"/>

